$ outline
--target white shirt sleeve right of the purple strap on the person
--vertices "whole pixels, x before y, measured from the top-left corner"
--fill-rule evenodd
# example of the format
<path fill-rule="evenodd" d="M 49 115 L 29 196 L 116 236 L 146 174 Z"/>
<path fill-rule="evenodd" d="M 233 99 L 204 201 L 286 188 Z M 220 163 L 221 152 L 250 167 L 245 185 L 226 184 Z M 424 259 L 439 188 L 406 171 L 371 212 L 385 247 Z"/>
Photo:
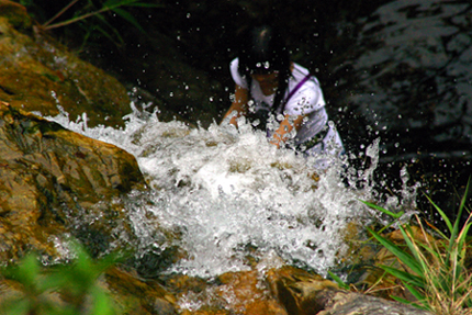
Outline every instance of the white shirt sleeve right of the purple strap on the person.
<path fill-rule="evenodd" d="M 306 115 L 325 106 L 322 89 L 315 78 L 306 81 L 289 100 L 285 113 L 289 115 Z"/>

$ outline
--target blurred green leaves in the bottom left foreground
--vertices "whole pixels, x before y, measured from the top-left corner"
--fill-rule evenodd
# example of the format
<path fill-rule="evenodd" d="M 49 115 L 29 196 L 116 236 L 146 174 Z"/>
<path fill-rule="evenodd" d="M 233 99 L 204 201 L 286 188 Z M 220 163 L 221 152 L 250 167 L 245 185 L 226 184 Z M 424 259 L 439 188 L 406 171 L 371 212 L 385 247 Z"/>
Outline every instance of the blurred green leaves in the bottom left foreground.
<path fill-rule="evenodd" d="M 1 270 L 3 281 L 20 284 L 18 294 L 10 294 L 1 301 L 1 314 L 119 314 L 105 290 L 98 283 L 100 274 L 115 263 L 116 258 L 116 255 L 109 255 L 93 261 L 77 245 L 74 263 L 46 269 L 40 266 L 36 255 L 31 254 L 18 266 Z"/>

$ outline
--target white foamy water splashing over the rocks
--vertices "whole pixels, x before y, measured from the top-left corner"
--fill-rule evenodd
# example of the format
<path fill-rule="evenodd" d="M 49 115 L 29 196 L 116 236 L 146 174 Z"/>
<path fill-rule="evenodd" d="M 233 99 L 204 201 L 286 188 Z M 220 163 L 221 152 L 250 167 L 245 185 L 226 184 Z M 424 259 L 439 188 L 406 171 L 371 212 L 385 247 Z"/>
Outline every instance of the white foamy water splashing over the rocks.
<path fill-rule="evenodd" d="M 358 200 L 369 199 L 369 189 L 346 188 L 341 161 L 333 160 L 314 180 L 315 158 L 276 149 L 249 125 L 191 128 L 136 110 L 124 117 L 123 130 L 90 128 L 86 116 L 71 122 L 64 113 L 48 119 L 136 157 L 149 187 L 145 195 L 130 194 L 136 247 L 183 249 L 188 257 L 169 271 L 212 277 L 246 270 L 251 255 L 266 265 L 282 259 L 325 274 L 346 249 L 346 224 L 366 215 Z M 367 154 L 374 158 L 378 148 Z M 353 173 L 368 182 L 372 170 Z M 179 237 L 166 238 L 162 229 Z"/>

